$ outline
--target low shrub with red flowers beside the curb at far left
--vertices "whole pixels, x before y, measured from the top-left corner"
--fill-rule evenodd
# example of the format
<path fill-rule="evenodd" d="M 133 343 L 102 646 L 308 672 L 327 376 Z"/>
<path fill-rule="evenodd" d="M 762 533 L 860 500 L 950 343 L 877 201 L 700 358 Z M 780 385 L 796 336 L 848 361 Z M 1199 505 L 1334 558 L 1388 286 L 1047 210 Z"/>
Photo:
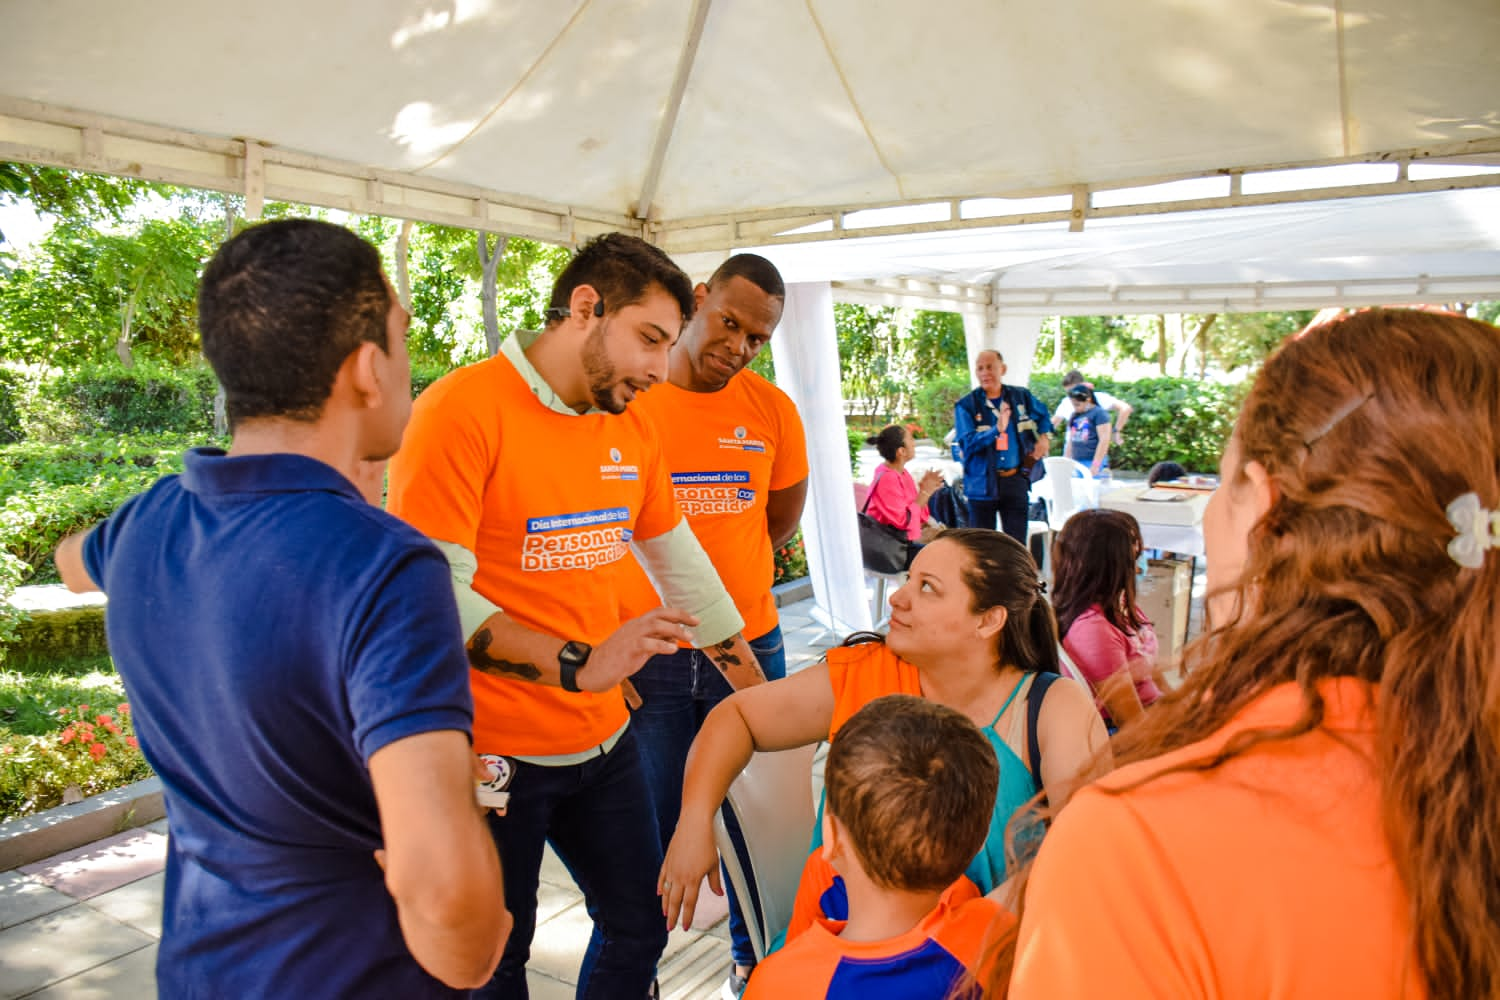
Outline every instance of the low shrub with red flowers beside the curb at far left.
<path fill-rule="evenodd" d="M 60 708 L 57 730 L 0 744 L 0 819 L 30 816 L 152 775 L 130 706 Z"/>

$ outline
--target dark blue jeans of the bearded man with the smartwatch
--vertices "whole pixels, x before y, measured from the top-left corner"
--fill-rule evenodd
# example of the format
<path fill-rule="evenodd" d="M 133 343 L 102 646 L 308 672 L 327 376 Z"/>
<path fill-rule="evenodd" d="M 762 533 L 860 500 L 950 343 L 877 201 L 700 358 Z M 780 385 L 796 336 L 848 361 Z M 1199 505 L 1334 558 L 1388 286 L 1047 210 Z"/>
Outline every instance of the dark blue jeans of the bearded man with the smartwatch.
<path fill-rule="evenodd" d="M 666 919 L 656 891 L 662 846 L 651 816 L 640 808 L 648 792 L 632 729 L 608 754 L 579 765 L 546 768 L 513 760 L 510 807 L 506 816 L 489 814 L 489 831 L 516 924 L 495 976 L 471 996 L 528 997 L 526 960 L 548 843 L 584 891 L 594 921 L 578 976 L 579 1000 L 640 1000 L 650 993 L 666 948 Z"/>

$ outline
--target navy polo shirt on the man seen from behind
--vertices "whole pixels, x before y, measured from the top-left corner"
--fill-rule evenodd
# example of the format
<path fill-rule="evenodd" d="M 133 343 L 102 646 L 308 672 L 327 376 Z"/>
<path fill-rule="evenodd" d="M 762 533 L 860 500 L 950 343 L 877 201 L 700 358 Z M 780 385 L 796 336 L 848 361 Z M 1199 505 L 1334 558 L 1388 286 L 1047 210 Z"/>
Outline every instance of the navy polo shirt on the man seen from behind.
<path fill-rule="evenodd" d="M 166 786 L 160 994 L 458 996 L 400 936 L 366 768 L 471 732 L 442 555 L 315 459 L 198 448 L 84 564 Z"/>

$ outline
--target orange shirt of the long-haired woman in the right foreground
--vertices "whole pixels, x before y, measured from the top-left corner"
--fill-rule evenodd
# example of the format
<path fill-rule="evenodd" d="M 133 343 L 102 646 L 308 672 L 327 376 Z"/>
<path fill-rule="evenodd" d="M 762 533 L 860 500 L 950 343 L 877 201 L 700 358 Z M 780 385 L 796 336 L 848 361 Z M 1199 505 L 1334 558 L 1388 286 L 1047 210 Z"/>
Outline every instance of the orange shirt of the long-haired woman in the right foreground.
<path fill-rule="evenodd" d="M 1312 733 L 1104 790 L 1290 724 L 1300 693 L 1280 685 L 1068 802 L 1026 892 L 1014 1000 L 1426 996 L 1382 828 L 1372 691 L 1352 678 L 1320 690 Z"/>

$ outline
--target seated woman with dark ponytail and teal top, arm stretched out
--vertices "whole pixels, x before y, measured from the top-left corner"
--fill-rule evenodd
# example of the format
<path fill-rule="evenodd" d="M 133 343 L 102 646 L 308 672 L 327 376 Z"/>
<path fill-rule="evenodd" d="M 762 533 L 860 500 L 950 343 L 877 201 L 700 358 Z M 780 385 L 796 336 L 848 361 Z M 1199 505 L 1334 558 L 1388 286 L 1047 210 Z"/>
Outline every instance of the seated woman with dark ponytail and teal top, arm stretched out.
<path fill-rule="evenodd" d="M 1092 696 L 1056 670 L 1058 625 L 1026 547 L 996 531 L 942 532 L 916 555 L 906 585 L 891 595 L 888 636 L 852 636 L 820 663 L 738 691 L 708 715 L 687 759 L 681 819 L 662 868 L 668 925 L 681 915 L 687 927 L 704 876 L 717 879 L 714 813 L 752 751 L 837 739 L 844 720 L 885 694 L 914 694 L 957 709 L 994 748 L 1000 790 L 990 837 L 966 876 L 980 892 L 996 889 L 1006 876 L 1011 814 L 1036 792 L 1060 808 L 1090 759 L 1095 768 L 1108 769 L 1107 736 Z M 814 850 L 789 937 L 812 919 L 842 919 L 826 912 L 824 891 L 834 886 L 832 870 Z M 819 906 L 822 912 L 812 912 Z"/>

